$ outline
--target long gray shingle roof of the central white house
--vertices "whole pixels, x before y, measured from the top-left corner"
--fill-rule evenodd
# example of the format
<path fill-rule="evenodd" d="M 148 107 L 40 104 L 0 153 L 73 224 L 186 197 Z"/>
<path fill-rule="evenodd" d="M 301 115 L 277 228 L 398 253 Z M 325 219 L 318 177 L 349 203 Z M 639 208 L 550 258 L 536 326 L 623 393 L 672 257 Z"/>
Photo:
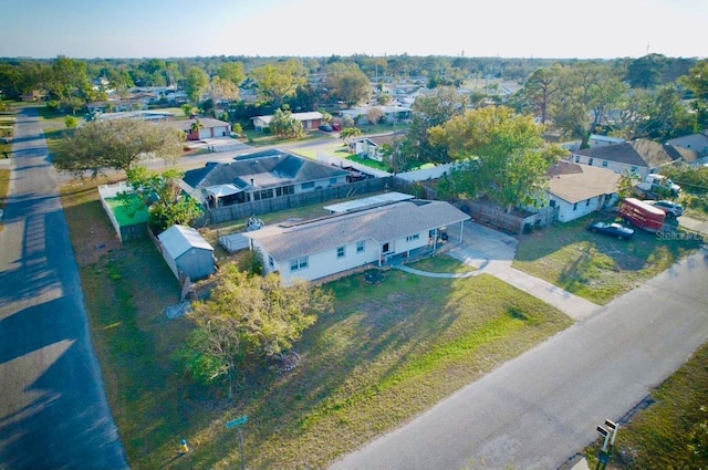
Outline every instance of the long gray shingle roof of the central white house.
<path fill-rule="evenodd" d="M 383 243 L 468 219 L 468 215 L 448 202 L 416 200 L 290 227 L 269 226 L 244 236 L 259 240 L 275 261 L 288 261 L 357 241 Z"/>

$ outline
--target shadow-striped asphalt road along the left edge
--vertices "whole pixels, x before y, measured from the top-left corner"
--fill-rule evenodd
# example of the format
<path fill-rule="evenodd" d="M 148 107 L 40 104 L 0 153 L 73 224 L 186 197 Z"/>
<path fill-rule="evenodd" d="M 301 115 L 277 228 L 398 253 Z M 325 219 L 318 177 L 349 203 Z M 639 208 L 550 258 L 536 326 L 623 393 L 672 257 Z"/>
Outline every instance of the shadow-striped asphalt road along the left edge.
<path fill-rule="evenodd" d="M 18 115 L 0 233 L 0 469 L 126 469 L 46 142 Z"/>

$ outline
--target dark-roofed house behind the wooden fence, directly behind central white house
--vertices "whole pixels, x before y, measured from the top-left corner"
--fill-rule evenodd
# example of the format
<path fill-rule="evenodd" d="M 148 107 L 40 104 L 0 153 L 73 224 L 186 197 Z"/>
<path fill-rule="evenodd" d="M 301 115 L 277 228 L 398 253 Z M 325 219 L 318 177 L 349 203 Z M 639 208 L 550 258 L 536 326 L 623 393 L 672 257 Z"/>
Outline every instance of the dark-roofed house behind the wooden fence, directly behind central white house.
<path fill-rule="evenodd" d="M 209 207 L 280 198 L 347 182 L 350 173 L 281 150 L 242 155 L 188 170 L 184 189 Z"/>

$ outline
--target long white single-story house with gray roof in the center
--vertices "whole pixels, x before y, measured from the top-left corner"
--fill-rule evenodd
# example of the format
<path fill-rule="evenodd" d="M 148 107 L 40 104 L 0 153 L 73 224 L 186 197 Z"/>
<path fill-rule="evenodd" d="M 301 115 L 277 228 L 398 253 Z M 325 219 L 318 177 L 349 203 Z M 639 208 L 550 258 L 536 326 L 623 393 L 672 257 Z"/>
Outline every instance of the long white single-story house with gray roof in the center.
<path fill-rule="evenodd" d="M 442 201 L 408 200 L 244 232 L 267 273 L 314 281 L 439 249 L 440 229 L 470 217 Z"/>

